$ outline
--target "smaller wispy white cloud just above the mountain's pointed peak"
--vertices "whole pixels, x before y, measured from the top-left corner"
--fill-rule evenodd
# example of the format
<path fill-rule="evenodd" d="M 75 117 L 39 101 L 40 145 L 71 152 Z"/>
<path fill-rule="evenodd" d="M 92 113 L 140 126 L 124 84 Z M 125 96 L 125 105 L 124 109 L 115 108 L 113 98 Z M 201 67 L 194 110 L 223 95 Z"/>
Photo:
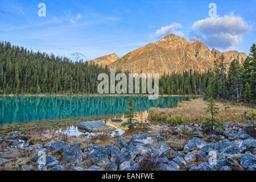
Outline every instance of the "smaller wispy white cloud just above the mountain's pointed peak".
<path fill-rule="evenodd" d="M 184 36 L 183 31 L 177 31 L 177 28 L 183 28 L 180 23 L 172 23 L 170 26 L 161 27 L 155 32 L 154 35 L 150 35 L 150 38 L 160 38 L 167 34 L 175 34 L 179 36 Z"/>

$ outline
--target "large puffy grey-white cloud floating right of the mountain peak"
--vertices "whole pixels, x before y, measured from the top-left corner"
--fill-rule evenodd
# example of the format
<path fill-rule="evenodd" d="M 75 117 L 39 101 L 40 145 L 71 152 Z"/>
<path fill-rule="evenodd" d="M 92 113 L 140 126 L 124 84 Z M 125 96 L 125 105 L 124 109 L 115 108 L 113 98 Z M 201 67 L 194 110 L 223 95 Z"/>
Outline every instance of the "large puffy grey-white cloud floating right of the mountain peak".
<path fill-rule="evenodd" d="M 242 42 L 242 35 L 251 30 L 251 26 L 241 16 L 214 16 L 195 22 L 189 33 L 191 40 L 201 40 L 209 47 L 232 48 Z"/>

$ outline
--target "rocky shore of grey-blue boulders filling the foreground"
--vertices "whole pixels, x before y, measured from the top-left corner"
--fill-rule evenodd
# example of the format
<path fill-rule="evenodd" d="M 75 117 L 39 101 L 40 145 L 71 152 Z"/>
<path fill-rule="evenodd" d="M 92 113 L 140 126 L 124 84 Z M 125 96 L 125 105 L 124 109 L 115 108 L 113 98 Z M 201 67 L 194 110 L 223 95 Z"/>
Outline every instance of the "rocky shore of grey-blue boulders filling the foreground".
<path fill-rule="evenodd" d="M 144 134 L 115 135 L 112 143 L 105 143 L 105 146 L 83 135 L 80 141 L 86 140 L 86 147 L 81 143 L 61 140 L 32 143 L 26 134 L 16 130 L 0 139 L 0 169 L 255 171 L 255 136 L 245 132 L 250 121 L 224 125 L 224 131 L 214 134 L 206 133 L 204 126 L 197 123 L 186 126 L 150 125 Z M 19 158 L 23 158 L 20 163 Z"/>

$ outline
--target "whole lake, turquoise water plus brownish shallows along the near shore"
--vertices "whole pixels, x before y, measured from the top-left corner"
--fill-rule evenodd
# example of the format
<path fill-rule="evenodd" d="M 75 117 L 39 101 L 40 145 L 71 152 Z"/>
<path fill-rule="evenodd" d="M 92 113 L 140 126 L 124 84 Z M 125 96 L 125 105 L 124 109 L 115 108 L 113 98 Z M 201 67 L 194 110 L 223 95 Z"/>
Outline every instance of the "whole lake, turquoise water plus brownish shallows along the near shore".
<path fill-rule="evenodd" d="M 158 100 L 148 100 L 148 97 L 134 96 L 133 100 L 138 120 L 143 121 L 150 107 L 176 107 L 177 103 L 191 98 L 159 97 Z M 1 96 L 0 134 L 35 125 L 55 128 L 56 125 L 76 125 L 96 119 L 118 127 L 119 123 L 111 119 L 125 119 L 123 113 L 128 100 L 129 96 Z"/>

